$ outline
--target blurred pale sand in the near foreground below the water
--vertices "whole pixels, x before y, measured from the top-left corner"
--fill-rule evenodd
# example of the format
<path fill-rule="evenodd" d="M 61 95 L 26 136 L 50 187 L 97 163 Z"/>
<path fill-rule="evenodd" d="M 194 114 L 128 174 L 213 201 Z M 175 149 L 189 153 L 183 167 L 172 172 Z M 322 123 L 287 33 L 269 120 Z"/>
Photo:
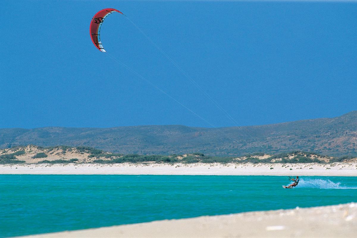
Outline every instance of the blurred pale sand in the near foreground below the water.
<path fill-rule="evenodd" d="M 357 203 L 246 212 L 26 237 L 356 237 Z"/>

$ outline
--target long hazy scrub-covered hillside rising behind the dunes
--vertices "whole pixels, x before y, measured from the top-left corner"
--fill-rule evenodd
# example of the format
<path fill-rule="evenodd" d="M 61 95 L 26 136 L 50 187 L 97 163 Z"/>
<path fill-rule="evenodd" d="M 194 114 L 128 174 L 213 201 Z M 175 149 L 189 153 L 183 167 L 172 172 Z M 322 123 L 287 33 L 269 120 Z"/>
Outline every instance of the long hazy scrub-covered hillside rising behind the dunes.
<path fill-rule="evenodd" d="M 335 118 L 220 130 L 180 125 L 0 129 L 0 148 L 28 144 L 89 146 L 113 153 L 142 155 L 201 152 L 211 156 L 241 156 L 299 150 L 331 156 L 356 156 L 357 111 Z"/>

